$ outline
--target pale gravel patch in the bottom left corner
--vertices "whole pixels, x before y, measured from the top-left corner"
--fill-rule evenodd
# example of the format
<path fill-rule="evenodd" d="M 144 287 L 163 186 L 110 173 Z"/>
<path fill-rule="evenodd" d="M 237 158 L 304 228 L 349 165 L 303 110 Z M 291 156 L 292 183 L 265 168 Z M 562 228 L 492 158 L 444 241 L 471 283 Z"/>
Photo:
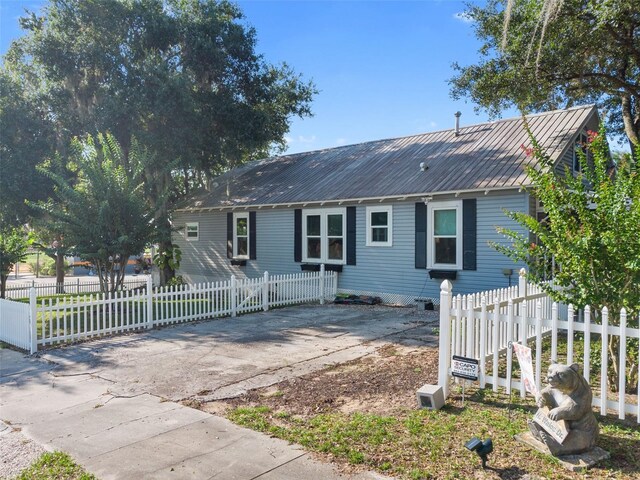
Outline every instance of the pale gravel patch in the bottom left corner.
<path fill-rule="evenodd" d="M 46 450 L 0 421 L 0 478 L 14 478 Z"/>

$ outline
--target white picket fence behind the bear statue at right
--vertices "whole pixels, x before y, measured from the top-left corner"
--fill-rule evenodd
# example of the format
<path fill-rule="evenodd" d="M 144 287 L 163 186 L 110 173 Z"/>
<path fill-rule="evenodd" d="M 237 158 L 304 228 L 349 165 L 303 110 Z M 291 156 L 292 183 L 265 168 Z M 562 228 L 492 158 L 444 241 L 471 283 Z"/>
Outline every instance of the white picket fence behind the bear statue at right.
<path fill-rule="evenodd" d="M 513 351 L 512 342 L 529 345 L 535 352 L 535 381 L 536 387 L 542 383 L 542 341 L 550 337 L 551 351 L 549 360 L 558 359 L 558 333 L 566 331 L 568 364 L 582 361 L 583 375 L 591 383 L 591 340 L 595 336 L 601 337 L 602 345 L 607 345 L 610 336 L 620 337 L 620 356 L 618 359 L 619 385 L 617 386 L 617 400 L 611 399 L 607 378 L 609 352 L 602 348 L 600 355 L 600 396 L 594 396 L 593 405 L 600 408 L 601 415 L 607 410 L 614 410 L 619 418 L 626 414 L 636 416 L 640 423 L 640 385 L 636 396 L 636 403 L 630 403 L 624 394 L 625 374 L 627 366 L 626 339 L 640 338 L 640 328 L 627 326 L 627 313 L 620 312 L 619 325 L 609 325 L 609 311 L 602 309 L 601 323 L 593 323 L 592 309 L 586 307 L 581 314 L 572 305 L 564 306 L 554 303 L 541 289 L 526 282 L 526 272 L 521 270 L 518 286 L 508 289 L 493 290 L 471 295 L 453 296 L 451 283 L 444 281 L 440 291 L 440 351 L 438 384 L 443 388 L 445 396 L 449 392 L 451 372 L 451 357 L 477 359 L 479 368 L 479 385 L 485 388 L 492 385 L 493 390 L 504 387 L 507 393 L 512 389 L 520 391 L 525 396 L 524 382 L 512 378 Z M 576 317 L 578 317 L 577 321 Z M 583 332 L 583 357 L 574 358 L 576 332 Z M 501 356 L 506 356 L 506 375 L 501 376 L 499 364 Z M 640 364 L 640 358 L 634 359 Z M 491 367 L 491 374 L 486 372 Z M 622 393 L 620 393 L 622 392 Z"/>

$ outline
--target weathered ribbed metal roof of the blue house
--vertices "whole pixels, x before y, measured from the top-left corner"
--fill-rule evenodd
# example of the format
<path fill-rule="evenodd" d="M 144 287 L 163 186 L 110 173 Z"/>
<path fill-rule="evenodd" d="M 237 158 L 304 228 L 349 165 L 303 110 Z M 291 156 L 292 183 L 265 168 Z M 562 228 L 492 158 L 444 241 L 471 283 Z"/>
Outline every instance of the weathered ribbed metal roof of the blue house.
<path fill-rule="evenodd" d="M 538 143 L 553 161 L 572 145 L 594 106 L 527 116 Z M 525 165 L 534 161 L 522 118 L 455 130 L 378 140 L 271 157 L 215 179 L 211 191 L 184 210 L 288 205 L 340 200 L 494 190 L 527 185 Z M 420 163 L 428 167 L 420 170 Z"/>

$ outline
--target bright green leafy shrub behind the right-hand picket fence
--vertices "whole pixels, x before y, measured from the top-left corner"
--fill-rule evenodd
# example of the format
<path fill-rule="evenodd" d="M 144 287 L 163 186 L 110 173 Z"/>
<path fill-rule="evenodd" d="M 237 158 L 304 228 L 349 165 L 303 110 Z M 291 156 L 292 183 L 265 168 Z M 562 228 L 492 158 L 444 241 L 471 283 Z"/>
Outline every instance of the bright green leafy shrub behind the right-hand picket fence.
<path fill-rule="evenodd" d="M 547 218 L 538 221 L 522 212 L 507 215 L 537 240 L 513 230 L 498 230 L 510 246 L 495 248 L 527 264 L 530 280 L 541 284 L 556 301 L 577 307 L 606 305 L 616 321 L 626 308 L 631 323 L 640 312 L 640 176 L 635 165 L 610 162 L 604 129 L 589 132 L 588 158 L 581 154 L 582 172 L 556 173 L 534 138 L 530 151 L 540 168 L 528 168 L 531 194 Z M 640 152 L 636 154 L 640 161 Z M 550 272 L 551 258 L 556 268 Z M 544 282 L 553 276 L 555 288 Z M 559 287 L 559 288 L 558 288 Z"/>

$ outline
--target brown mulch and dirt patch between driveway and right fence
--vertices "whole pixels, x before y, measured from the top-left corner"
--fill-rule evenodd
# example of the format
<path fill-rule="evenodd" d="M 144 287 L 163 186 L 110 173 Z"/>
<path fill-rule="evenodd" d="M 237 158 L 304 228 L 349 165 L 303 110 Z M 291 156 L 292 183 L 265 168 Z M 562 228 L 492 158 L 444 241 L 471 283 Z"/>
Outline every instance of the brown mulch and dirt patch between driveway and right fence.
<path fill-rule="evenodd" d="M 200 408 L 218 415 L 229 408 L 258 405 L 302 416 L 336 410 L 392 415 L 414 408 L 416 390 L 436 383 L 437 377 L 437 349 L 385 345 L 364 358 Z"/>

